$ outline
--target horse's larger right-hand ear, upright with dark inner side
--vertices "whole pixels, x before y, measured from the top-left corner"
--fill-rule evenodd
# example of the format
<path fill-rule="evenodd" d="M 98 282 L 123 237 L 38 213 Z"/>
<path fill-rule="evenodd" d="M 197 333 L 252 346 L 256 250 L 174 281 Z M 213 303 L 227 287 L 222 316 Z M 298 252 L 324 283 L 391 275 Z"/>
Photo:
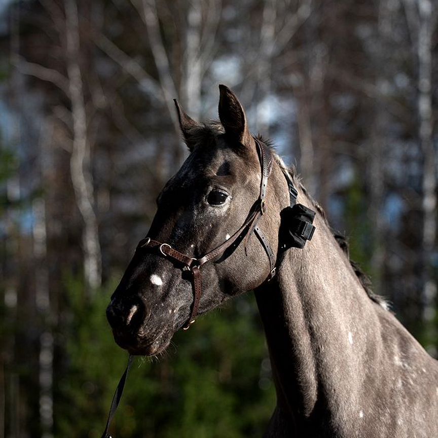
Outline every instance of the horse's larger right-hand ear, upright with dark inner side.
<path fill-rule="evenodd" d="M 237 96 L 225 85 L 219 86 L 219 119 L 225 132 L 242 144 L 249 144 L 251 134 L 248 130 L 246 115 Z"/>

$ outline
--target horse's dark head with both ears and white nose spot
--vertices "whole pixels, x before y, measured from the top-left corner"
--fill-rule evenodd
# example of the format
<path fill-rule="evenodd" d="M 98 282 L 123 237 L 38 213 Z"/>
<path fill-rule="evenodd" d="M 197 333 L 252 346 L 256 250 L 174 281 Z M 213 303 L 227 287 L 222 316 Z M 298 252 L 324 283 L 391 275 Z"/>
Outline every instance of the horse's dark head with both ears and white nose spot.
<path fill-rule="evenodd" d="M 190 155 L 160 193 L 148 236 L 107 308 L 116 342 L 131 354 L 161 352 L 196 314 L 267 281 L 289 201 L 279 166 L 249 133 L 229 88 L 220 86 L 221 123 L 198 123 L 175 104 Z"/>

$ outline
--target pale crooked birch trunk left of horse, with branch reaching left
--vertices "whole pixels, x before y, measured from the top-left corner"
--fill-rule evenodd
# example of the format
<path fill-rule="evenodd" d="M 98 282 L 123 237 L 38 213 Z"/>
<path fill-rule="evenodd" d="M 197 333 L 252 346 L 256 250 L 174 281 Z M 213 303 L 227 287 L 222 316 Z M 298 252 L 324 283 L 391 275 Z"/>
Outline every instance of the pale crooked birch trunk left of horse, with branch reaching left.
<path fill-rule="evenodd" d="M 75 0 L 64 0 L 65 39 L 67 55 L 68 90 L 71 99 L 73 122 L 73 147 L 70 159 L 71 181 L 76 202 L 84 220 L 82 244 L 84 251 L 84 275 L 90 290 L 101 283 L 101 252 L 97 217 L 94 212 L 91 153 L 87 139 L 87 116 L 80 59 L 78 9 Z"/>

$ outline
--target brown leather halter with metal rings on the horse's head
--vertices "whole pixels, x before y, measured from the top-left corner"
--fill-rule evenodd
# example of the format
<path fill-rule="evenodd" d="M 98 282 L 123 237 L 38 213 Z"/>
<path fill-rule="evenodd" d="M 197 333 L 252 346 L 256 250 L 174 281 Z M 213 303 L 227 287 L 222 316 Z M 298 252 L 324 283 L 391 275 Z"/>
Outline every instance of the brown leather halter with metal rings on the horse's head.
<path fill-rule="evenodd" d="M 194 300 L 192 306 L 192 312 L 185 326 L 184 330 L 187 330 L 191 324 L 195 322 L 195 318 L 198 314 L 199 302 L 202 296 L 202 283 L 201 283 L 201 271 L 200 268 L 207 262 L 216 259 L 219 255 L 223 254 L 228 248 L 233 246 L 233 249 L 238 246 L 240 239 L 245 239 L 245 253 L 246 247 L 252 232 L 259 238 L 266 254 L 269 258 L 269 276 L 267 280 L 269 281 L 275 274 L 275 255 L 271 246 L 268 243 L 267 238 L 263 234 L 262 230 L 257 226 L 260 218 L 265 212 L 265 198 L 266 189 L 268 187 L 268 178 L 272 170 L 272 152 L 271 150 L 260 140 L 254 138 L 255 144 L 257 144 L 257 150 L 259 153 L 260 165 L 262 168 L 262 180 L 260 184 L 259 198 L 254 202 L 249 211 L 248 217 L 244 224 L 224 243 L 216 246 L 211 251 L 207 252 L 205 255 L 199 259 L 189 257 L 188 255 L 177 251 L 172 248 L 168 243 L 162 243 L 157 240 L 153 240 L 150 237 L 146 237 L 141 240 L 137 246 L 137 250 L 145 249 L 151 252 L 155 252 L 157 255 L 162 255 L 163 257 L 170 259 L 176 264 L 182 265 L 182 270 L 190 271 L 192 274 L 192 285 L 194 290 Z M 237 242 L 236 242 L 237 241 Z"/>

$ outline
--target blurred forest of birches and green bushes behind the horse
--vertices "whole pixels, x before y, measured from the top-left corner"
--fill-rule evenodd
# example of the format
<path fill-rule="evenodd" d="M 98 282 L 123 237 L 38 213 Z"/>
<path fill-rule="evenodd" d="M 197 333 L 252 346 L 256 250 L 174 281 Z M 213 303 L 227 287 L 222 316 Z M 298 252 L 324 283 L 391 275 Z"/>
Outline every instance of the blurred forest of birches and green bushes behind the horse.
<path fill-rule="evenodd" d="M 104 310 L 219 83 L 435 355 L 436 0 L 0 1 L 0 438 L 100 437 L 126 354 Z M 123 437 L 261 436 L 251 294 L 137 359 Z"/>

